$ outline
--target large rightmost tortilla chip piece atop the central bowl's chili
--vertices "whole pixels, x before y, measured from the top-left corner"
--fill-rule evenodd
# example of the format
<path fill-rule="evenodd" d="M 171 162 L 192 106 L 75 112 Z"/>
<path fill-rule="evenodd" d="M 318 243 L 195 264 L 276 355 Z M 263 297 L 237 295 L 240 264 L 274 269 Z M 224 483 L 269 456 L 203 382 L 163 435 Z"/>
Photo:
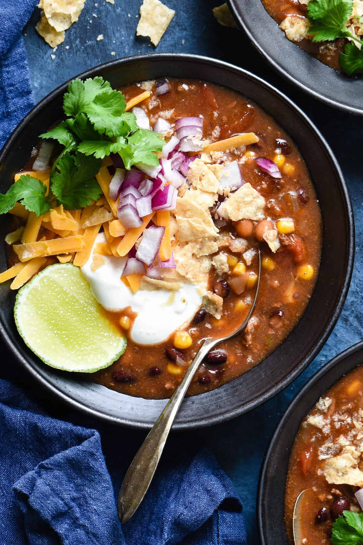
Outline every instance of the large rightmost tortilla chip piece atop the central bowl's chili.
<path fill-rule="evenodd" d="M 232 193 L 219 207 L 230 220 L 263 220 L 265 199 L 250 183 Z"/>

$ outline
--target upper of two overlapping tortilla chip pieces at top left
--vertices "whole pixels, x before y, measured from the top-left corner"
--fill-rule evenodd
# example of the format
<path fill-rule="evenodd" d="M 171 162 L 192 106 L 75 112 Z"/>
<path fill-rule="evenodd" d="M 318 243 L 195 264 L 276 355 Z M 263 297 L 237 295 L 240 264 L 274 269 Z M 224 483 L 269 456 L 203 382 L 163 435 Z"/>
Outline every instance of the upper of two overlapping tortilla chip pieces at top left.
<path fill-rule="evenodd" d="M 57 32 L 66 31 L 78 17 L 86 0 L 40 0 L 38 8 L 43 9 L 49 25 Z"/>

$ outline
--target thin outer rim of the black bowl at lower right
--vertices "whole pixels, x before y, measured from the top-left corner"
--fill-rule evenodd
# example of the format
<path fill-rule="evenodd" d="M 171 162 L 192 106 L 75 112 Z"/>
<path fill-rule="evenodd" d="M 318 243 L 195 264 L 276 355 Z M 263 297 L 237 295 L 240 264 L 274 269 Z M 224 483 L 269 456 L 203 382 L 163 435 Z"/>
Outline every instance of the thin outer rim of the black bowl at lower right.
<path fill-rule="evenodd" d="M 319 383 L 320 379 L 325 376 L 326 373 L 328 373 L 332 368 L 338 366 L 341 364 L 343 360 L 346 360 L 347 358 L 350 358 L 350 356 L 354 354 L 361 353 L 362 359 L 363 359 L 363 341 L 359 341 L 358 343 L 353 344 L 353 346 L 350 346 L 343 350 L 340 354 L 337 354 L 326 362 L 316 373 L 313 374 L 310 379 L 307 380 L 307 382 L 302 386 L 302 388 L 298 391 L 297 395 L 292 399 L 292 401 L 288 404 L 287 408 L 283 412 L 283 415 L 281 419 L 279 420 L 279 423 L 277 423 L 277 426 L 275 428 L 275 431 L 270 439 L 269 445 L 267 447 L 267 450 L 264 454 L 261 470 L 259 474 L 259 480 L 258 480 L 258 488 L 257 488 L 257 525 L 258 525 L 258 531 L 259 531 L 259 537 L 261 540 L 262 545 L 269 545 L 268 540 L 265 539 L 265 530 L 264 530 L 264 487 L 265 482 L 268 479 L 268 469 L 269 469 L 269 463 L 271 459 L 271 455 L 274 452 L 275 445 L 277 441 L 279 440 L 280 433 L 283 431 L 283 428 L 285 427 L 286 421 L 291 417 L 294 410 L 298 407 L 298 405 L 302 402 L 304 402 L 304 398 L 307 395 L 308 392 L 310 392 L 314 386 Z M 329 386 L 324 386 L 324 391 L 317 396 L 316 401 L 318 401 L 318 398 L 324 394 L 327 390 L 329 390 L 334 384 L 337 383 L 338 380 L 340 380 L 345 374 L 348 374 L 350 371 L 353 371 L 353 369 L 356 367 L 354 365 L 352 369 L 349 371 L 344 371 L 340 378 L 334 380 Z M 311 408 L 306 410 L 306 414 L 311 410 Z M 303 417 L 304 419 L 304 417 Z M 302 421 L 302 420 L 301 420 Z M 301 421 L 299 421 L 299 426 L 301 424 Z M 296 437 L 296 435 L 295 435 Z M 294 440 L 295 440 L 294 437 Z M 285 498 L 284 498 L 285 501 Z M 282 523 L 285 525 L 285 522 L 282 521 Z"/>

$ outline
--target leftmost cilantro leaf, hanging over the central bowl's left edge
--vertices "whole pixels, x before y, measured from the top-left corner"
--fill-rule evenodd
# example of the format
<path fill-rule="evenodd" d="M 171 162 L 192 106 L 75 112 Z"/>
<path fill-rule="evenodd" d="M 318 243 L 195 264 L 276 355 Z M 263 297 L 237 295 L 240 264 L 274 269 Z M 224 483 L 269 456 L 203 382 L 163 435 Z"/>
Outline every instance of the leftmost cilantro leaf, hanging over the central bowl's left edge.
<path fill-rule="evenodd" d="M 14 208 L 17 201 L 21 201 L 27 210 L 35 212 L 38 217 L 45 214 L 51 208 L 50 202 L 45 198 L 46 190 L 46 186 L 38 178 L 23 174 L 5 195 L 0 193 L 0 214 Z"/>

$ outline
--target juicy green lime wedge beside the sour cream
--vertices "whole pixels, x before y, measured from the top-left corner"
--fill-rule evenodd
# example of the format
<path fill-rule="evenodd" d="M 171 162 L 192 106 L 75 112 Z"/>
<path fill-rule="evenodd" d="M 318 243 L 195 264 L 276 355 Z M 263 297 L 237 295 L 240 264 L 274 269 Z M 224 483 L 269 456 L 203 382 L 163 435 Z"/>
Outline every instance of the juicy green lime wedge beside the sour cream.
<path fill-rule="evenodd" d="M 27 346 L 57 369 L 93 373 L 125 352 L 125 337 L 70 263 L 51 265 L 25 284 L 16 295 L 14 317 Z"/>

